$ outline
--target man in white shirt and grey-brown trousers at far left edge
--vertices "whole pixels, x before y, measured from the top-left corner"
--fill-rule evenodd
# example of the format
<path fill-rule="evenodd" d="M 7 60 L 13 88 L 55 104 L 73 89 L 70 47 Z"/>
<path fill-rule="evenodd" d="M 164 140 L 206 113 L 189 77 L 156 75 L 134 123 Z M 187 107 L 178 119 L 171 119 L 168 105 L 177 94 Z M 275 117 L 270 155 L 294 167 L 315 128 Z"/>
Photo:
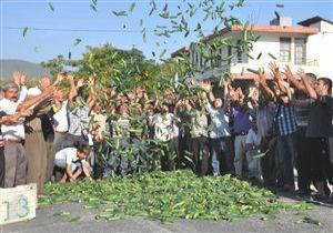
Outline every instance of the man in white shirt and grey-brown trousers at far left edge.
<path fill-rule="evenodd" d="M 21 103 L 19 99 L 19 87 L 16 83 L 8 83 L 2 87 L 4 98 L 0 100 L 0 111 L 6 114 L 16 114 L 17 112 L 24 112 L 33 104 L 49 98 L 52 94 L 52 89 L 48 89 L 43 93 L 26 100 Z M 29 114 L 31 112 L 28 111 Z M 29 114 L 21 116 L 27 116 Z M 24 184 L 27 179 L 27 158 L 23 148 L 24 142 L 24 118 L 20 118 L 19 122 L 12 125 L 1 125 L 1 131 L 4 142 L 4 159 L 6 159 L 6 176 L 4 186 L 13 188 L 16 185 Z"/>

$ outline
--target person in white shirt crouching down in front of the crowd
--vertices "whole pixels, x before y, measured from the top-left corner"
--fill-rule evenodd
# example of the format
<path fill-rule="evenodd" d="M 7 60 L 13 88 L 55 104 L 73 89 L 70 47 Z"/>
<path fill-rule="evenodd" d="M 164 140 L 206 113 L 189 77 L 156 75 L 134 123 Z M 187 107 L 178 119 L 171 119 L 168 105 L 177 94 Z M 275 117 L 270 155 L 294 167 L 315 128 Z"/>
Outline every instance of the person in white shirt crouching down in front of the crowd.
<path fill-rule="evenodd" d="M 54 165 L 64 170 L 60 183 L 75 181 L 82 173 L 89 178 L 89 164 L 85 161 L 87 155 L 90 153 L 90 146 L 80 142 L 74 143 L 74 148 L 65 148 L 56 153 Z"/>

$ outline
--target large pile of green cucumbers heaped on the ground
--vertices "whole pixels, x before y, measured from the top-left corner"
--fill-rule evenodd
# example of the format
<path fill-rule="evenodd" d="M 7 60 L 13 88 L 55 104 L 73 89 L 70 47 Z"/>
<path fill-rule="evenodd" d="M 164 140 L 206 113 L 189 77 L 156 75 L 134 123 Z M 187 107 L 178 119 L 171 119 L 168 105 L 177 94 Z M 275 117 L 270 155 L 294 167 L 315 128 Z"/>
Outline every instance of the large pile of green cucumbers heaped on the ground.
<path fill-rule="evenodd" d="M 48 184 L 46 193 L 39 199 L 40 206 L 80 202 L 84 209 L 99 209 L 95 219 L 104 220 L 143 216 L 233 221 L 252 215 L 268 220 L 282 210 L 311 209 L 305 203 L 283 203 L 269 190 L 230 175 L 198 178 L 191 171 Z"/>

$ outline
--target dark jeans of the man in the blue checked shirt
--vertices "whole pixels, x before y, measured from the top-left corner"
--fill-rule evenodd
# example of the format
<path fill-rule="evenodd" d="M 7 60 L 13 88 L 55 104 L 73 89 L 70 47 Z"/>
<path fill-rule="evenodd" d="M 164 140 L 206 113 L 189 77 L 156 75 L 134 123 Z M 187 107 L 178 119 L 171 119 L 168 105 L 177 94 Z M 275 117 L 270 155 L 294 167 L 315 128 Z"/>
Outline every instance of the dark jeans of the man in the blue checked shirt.
<path fill-rule="evenodd" d="M 278 185 L 294 186 L 293 164 L 296 158 L 295 133 L 278 136 L 276 179 Z"/>

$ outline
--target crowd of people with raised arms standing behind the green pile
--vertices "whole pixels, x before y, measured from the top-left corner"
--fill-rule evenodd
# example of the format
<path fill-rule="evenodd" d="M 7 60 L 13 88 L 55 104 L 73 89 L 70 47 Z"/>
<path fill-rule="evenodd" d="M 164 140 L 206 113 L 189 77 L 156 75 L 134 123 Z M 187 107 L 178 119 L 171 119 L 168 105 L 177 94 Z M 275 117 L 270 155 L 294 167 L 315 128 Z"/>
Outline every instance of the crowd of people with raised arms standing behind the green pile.
<path fill-rule="evenodd" d="M 42 194 L 50 180 L 160 166 L 191 169 L 199 176 L 232 174 L 329 199 L 332 81 L 274 62 L 266 70 L 259 69 L 250 89 L 228 79 L 218 91 L 223 94 L 194 79 L 182 92 L 167 88 L 152 94 L 142 87 L 124 92 L 67 72 L 53 83 L 41 77 L 28 89 L 26 75 L 16 72 L 1 87 L 1 186 L 36 182 Z"/>

